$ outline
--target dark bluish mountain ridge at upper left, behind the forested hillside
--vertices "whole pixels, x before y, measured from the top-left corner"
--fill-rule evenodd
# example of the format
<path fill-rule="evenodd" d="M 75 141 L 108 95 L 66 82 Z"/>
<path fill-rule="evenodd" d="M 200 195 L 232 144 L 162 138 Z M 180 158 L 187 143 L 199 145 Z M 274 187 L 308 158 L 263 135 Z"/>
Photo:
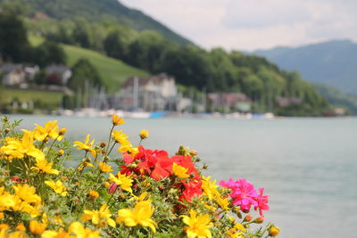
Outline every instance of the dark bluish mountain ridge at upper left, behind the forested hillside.
<path fill-rule="evenodd" d="M 8 0 L 0 0 L 1 2 Z M 42 12 L 56 20 L 84 17 L 87 21 L 118 21 L 138 31 L 153 29 L 179 45 L 192 44 L 144 12 L 130 9 L 118 0 L 20 0 L 29 5 L 29 12 Z"/>

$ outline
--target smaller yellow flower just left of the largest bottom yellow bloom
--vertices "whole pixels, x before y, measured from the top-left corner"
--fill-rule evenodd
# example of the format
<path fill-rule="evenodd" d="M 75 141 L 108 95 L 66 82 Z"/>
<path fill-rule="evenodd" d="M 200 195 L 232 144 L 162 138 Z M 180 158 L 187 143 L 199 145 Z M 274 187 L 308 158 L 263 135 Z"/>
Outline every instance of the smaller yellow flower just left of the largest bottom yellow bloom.
<path fill-rule="evenodd" d="M 111 218 L 112 214 L 106 203 L 99 210 L 85 209 L 83 212 L 85 213 L 82 217 L 83 221 L 92 220 L 92 223 L 99 227 L 104 227 L 107 224 L 115 227 L 115 221 Z"/>

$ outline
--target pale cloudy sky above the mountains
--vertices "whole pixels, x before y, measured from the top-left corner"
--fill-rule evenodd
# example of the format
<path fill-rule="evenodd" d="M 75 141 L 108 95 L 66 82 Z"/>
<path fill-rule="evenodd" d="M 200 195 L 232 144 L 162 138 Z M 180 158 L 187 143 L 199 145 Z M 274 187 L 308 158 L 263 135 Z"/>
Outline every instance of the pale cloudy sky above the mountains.
<path fill-rule="evenodd" d="M 196 45 L 252 51 L 357 41 L 357 0 L 120 0 Z"/>

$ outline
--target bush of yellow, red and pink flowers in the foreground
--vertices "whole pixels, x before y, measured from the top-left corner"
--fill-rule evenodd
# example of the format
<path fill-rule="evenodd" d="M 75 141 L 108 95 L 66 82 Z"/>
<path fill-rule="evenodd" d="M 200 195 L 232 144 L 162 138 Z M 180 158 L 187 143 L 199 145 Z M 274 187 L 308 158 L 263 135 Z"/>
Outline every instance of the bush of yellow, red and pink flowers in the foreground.
<path fill-rule="evenodd" d="M 70 144 L 57 121 L 18 131 L 2 119 L 0 130 L 0 237 L 268 237 L 262 226 L 268 195 L 245 179 L 203 176 L 197 152 L 149 150 L 118 130 L 108 141 Z M 73 147 L 74 146 L 74 147 Z M 72 158 L 73 150 L 81 156 Z M 75 154 L 78 154 L 75 153 Z M 66 160 L 78 161 L 75 168 Z M 258 213 L 254 213 L 258 210 Z M 244 216 L 245 215 L 245 216 Z"/>

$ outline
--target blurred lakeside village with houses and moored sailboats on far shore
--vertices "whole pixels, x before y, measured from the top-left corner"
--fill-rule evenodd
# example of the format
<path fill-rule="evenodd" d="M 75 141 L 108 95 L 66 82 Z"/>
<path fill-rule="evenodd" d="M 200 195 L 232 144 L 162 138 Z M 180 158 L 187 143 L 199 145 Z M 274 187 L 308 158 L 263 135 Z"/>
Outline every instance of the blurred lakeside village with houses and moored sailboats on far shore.
<path fill-rule="evenodd" d="M 204 92 L 200 96 L 184 95 L 179 92 L 175 78 L 161 73 L 150 77 L 130 77 L 120 86 L 116 94 L 106 94 L 103 88 L 87 85 L 81 92 L 73 92 L 68 87 L 72 76 L 71 68 L 64 65 L 52 64 L 47 66 L 42 78 L 37 78 L 38 66 L 25 64 L 4 63 L 0 65 L 1 84 L 5 88 L 18 88 L 26 90 L 36 88 L 46 92 L 62 92 L 66 95 L 82 97 L 86 95 L 83 105 L 73 105 L 65 108 L 58 105 L 55 113 L 64 115 L 77 114 L 104 114 L 107 111 L 131 111 L 131 113 L 143 113 L 162 111 L 178 113 L 204 113 L 207 111 L 219 111 L 221 113 L 237 113 L 247 115 L 253 112 L 253 101 L 242 93 L 209 93 Z M 87 92 L 86 92 L 87 91 Z M 82 95 L 81 95 L 82 94 Z M 291 104 L 300 104 L 300 98 L 279 97 L 275 102 L 279 107 Z M 12 102 L 12 108 L 31 109 L 34 103 Z M 341 111 L 340 113 L 344 113 Z M 145 116 L 143 116 L 145 117 Z"/>

